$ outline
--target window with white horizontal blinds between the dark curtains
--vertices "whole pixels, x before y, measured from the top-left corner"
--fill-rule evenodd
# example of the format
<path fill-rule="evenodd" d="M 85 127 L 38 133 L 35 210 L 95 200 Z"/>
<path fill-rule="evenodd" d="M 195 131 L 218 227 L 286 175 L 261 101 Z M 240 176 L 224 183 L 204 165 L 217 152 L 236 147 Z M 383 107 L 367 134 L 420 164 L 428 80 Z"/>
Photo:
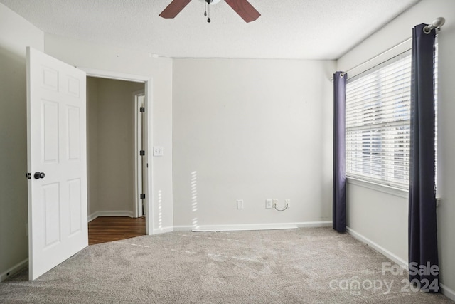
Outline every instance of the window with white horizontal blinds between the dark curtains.
<path fill-rule="evenodd" d="M 435 67 L 437 73 L 437 56 Z M 434 85 L 437 100 L 437 77 Z M 411 51 L 348 79 L 348 177 L 402 189 L 409 187 L 410 89 Z"/>

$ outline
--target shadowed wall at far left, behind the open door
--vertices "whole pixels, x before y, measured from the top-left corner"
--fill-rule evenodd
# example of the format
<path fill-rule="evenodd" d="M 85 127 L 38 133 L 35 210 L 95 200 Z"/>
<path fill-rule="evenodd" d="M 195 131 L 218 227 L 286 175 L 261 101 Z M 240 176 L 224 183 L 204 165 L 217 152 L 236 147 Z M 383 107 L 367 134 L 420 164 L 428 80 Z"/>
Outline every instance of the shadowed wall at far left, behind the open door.
<path fill-rule="evenodd" d="M 0 281 L 28 258 L 26 46 L 43 32 L 0 4 Z"/>

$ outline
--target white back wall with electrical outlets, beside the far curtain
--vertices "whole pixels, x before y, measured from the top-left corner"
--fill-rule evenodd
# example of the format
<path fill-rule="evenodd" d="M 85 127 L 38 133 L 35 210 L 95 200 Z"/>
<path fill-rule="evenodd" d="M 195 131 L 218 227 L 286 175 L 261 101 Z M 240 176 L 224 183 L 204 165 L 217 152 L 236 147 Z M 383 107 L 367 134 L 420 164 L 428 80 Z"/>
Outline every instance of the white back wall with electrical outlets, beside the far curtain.
<path fill-rule="evenodd" d="M 333 61 L 173 65 L 177 228 L 331 221 Z"/>

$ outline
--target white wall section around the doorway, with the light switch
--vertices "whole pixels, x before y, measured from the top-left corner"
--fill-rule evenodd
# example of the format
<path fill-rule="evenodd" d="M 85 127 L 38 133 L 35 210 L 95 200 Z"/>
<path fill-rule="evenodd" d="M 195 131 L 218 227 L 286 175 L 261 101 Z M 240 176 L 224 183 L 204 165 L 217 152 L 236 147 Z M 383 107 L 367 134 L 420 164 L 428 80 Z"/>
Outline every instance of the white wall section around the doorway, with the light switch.
<path fill-rule="evenodd" d="M 163 157 L 154 157 L 151 232 L 173 226 L 172 208 L 172 60 L 149 53 L 45 34 L 45 53 L 71 65 L 141 75 L 153 79 L 153 143 L 164 147 Z M 150 163 L 149 163 L 150 164 Z"/>

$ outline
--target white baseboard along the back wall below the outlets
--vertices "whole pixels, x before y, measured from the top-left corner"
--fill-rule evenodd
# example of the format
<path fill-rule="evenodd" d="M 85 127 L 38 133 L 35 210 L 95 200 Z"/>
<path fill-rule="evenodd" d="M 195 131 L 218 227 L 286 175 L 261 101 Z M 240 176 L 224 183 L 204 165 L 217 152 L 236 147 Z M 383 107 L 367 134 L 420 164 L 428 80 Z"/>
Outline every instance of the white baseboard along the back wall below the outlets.
<path fill-rule="evenodd" d="M 309 221 L 300 223 L 277 224 L 233 224 L 233 225 L 204 225 L 204 226 L 174 226 L 174 231 L 245 231 L 245 230 L 276 230 L 296 229 L 299 227 L 326 227 L 331 221 Z"/>

